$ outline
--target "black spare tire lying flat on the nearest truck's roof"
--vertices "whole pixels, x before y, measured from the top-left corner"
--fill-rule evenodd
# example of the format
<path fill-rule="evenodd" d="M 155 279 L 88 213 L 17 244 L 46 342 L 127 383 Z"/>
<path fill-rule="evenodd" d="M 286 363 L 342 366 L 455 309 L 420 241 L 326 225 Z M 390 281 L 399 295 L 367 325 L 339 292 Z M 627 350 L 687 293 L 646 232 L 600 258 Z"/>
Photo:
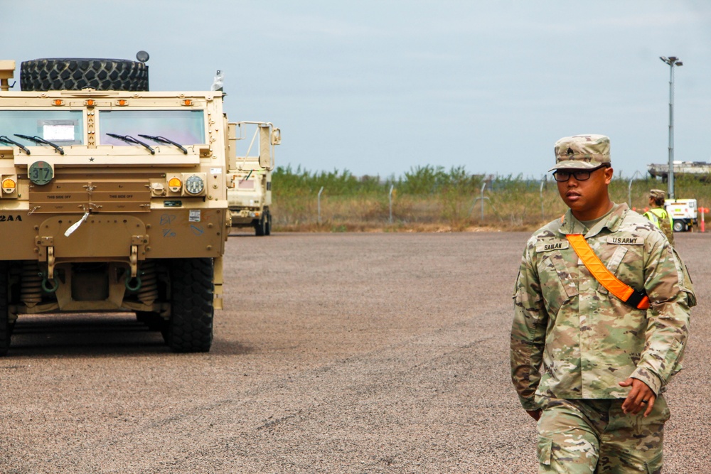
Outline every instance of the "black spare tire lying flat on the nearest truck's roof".
<path fill-rule="evenodd" d="M 148 90 L 148 65 L 124 59 L 46 58 L 20 65 L 22 90 Z"/>

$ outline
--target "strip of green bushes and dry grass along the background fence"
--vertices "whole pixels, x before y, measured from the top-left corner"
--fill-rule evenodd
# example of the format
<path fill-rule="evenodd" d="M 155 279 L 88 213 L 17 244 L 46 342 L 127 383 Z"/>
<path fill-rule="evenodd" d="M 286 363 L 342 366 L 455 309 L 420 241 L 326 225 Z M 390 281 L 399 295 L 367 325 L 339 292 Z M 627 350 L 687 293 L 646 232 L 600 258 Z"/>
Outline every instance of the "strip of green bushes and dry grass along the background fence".
<path fill-rule="evenodd" d="M 523 176 L 471 175 L 464 166 L 449 171 L 443 166 L 417 166 L 398 178 L 384 179 L 356 177 L 348 170 L 309 172 L 287 166 L 274 171 L 272 183 L 275 230 L 532 230 L 566 209 L 550 175 L 541 188 L 540 181 Z M 629 178 L 616 176 L 610 193 L 617 203 L 628 202 L 630 193 L 632 207 L 644 210 L 652 188 L 666 189 L 666 184 L 644 178 L 632 181 L 630 187 Z M 676 195 L 696 198 L 700 206 L 711 205 L 711 185 L 696 178 L 677 177 Z"/>

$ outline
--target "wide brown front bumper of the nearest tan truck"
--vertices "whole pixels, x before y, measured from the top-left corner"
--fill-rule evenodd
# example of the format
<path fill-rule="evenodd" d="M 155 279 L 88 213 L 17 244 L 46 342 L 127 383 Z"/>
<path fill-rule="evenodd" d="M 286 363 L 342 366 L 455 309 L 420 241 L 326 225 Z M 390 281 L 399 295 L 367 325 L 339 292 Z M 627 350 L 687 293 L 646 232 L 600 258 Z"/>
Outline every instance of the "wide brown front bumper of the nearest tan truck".
<path fill-rule="evenodd" d="M 73 232 L 82 214 L 4 212 L 3 232 L 14 245 L 0 260 L 115 261 L 135 258 L 220 257 L 228 216 L 223 209 L 156 209 L 131 214 L 96 213 Z"/>

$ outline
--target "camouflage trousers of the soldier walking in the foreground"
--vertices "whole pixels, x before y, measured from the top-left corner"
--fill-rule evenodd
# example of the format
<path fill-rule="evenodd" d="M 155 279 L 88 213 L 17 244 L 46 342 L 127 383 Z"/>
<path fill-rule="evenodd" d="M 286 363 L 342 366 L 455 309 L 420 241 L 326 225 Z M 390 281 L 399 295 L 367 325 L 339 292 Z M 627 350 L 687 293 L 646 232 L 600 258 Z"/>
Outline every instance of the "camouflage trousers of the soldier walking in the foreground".
<path fill-rule="evenodd" d="M 539 473 L 660 474 L 664 422 L 663 396 L 646 418 L 622 413 L 624 399 L 563 400 L 536 397 Z"/>

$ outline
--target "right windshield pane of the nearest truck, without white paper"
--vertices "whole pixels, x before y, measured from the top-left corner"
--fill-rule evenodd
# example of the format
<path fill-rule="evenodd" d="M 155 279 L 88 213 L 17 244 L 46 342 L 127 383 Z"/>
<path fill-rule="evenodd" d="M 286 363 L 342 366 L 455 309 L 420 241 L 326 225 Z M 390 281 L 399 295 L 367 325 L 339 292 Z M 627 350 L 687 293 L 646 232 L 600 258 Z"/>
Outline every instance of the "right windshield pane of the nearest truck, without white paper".
<path fill-rule="evenodd" d="M 135 146 L 112 135 L 161 136 L 178 144 L 204 144 L 202 110 L 102 110 L 99 112 L 101 144 Z"/>

